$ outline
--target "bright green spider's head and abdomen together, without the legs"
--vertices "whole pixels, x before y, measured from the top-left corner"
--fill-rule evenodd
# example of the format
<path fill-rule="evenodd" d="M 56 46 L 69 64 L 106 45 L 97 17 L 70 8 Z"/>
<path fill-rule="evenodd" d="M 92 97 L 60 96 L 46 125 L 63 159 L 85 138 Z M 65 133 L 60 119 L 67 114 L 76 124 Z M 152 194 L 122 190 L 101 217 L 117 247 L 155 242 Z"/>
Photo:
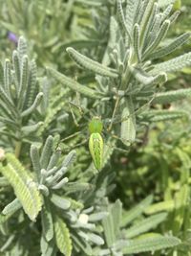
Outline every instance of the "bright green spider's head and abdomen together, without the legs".
<path fill-rule="evenodd" d="M 89 149 L 96 167 L 96 170 L 100 171 L 103 162 L 103 138 L 101 132 L 103 129 L 103 123 L 100 117 L 93 117 L 89 123 Z"/>

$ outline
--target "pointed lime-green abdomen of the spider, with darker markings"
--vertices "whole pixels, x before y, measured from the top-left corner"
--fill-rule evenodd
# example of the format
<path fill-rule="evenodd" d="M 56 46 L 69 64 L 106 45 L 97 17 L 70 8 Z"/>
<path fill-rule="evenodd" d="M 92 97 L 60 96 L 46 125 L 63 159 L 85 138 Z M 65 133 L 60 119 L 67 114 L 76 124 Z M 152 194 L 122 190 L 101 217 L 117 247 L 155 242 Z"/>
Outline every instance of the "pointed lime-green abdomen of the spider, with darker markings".
<path fill-rule="evenodd" d="M 89 149 L 98 171 L 102 168 L 103 160 L 103 139 L 99 133 L 92 133 L 89 139 Z"/>

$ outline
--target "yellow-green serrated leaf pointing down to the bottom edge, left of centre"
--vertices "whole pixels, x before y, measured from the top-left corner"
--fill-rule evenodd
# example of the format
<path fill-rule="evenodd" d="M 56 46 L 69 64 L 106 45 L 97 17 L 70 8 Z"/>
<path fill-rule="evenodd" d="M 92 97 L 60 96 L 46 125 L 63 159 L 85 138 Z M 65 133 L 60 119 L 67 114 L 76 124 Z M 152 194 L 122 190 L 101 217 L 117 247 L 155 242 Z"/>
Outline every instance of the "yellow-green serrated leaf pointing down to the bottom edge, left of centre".
<path fill-rule="evenodd" d="M 70 231 L 65 222 L 57 216 L 54 220 L 54 234 L 55 242 L 61 253 L 65 256 L 71 256 L 73 247 Z"/>

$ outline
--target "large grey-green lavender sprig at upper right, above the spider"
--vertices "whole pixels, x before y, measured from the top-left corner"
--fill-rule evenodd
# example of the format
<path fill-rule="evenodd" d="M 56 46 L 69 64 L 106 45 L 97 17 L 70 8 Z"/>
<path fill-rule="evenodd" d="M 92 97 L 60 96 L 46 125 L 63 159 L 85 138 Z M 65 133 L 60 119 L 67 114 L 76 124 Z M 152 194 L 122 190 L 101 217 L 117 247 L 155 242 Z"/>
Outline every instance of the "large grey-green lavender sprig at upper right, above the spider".
<path fill-rule="evenodd" d="M 190 53 L 155 65 L 151 62 L 153 58 L 173 52 L 189 38 L 189 33 L 186 33 L 159 48 L 160 41 L 179 14 L 170 14 L 171 10 L 172 5 L 160 12 L 159 4 L 155 1 L 130 1 L 124 8 L 121 1 L 117 1 L 117 15 L 110 20 L 110 39 L 103 63 L 83 56 L 74 48 L 67 49 L 77 65 L 96 74 L 94 88 L 49 69 L 53 78 L 61 84 L 88 98 L 98 99 L 102 111 L 96 111 L 96 115 L 109 119 L 109 129 L 113 124 L 120 123 L 114 130 L 126 145 L 136 140 L 137 126 L 140 127 L 142 120 L 145 124 L 180 118 L 186 114 L 180 109 L 169 111 L 158 106 L 155 110 L 147 111 L 144 107 L 152 103 L 173 102 L 182 99 L 184 92 L 186 95 L 190 93 L 189 89 L 167 93 L 161 89 L 167 80 L 167 73 L 190 64 Z M 144 111 L 141 111 L 142 108 Z"/>

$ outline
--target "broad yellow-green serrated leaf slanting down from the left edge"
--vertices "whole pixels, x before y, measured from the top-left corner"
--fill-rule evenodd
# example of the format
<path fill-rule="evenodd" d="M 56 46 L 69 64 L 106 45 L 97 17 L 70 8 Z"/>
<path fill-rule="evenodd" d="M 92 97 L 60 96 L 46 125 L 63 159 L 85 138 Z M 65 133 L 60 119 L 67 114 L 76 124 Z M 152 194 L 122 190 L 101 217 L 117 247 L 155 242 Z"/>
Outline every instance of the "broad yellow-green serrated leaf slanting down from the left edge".
<path fill-rule="evenodd" d="M 0 163 L 0 172 L 9 180 L 25 213 L 35 221 L 42 207 L 42 198 L 37 184 L 30 174 L 11 153 L 6 154 L 6 164 Z"/>

